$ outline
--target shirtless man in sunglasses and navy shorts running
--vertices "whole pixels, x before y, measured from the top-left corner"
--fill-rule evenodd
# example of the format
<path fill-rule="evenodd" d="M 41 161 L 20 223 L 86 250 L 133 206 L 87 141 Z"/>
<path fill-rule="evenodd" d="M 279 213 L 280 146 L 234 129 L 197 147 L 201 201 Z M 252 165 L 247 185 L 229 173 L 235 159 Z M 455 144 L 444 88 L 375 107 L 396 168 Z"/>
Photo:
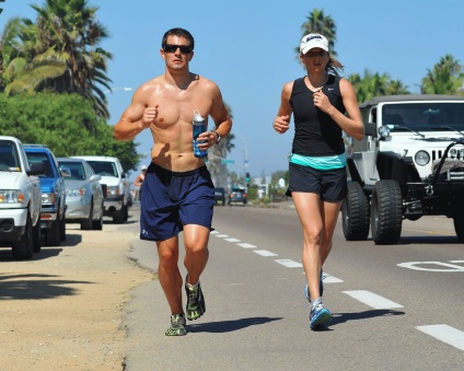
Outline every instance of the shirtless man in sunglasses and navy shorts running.
<path fill-rule="evenodd" d="M 183 278 L 178 269 L 178 233 L 184 231 L 186 315 L 199 318 L 206 311 L 199 279 L 208 262 L 208 240 L 214 205 L 214 186 L 204 158 L 193 149 L 194 111 L 214 120 L 216 130 L 207 130 L 198 140 L 207 150 L 225 138 L 232 120 L 218 85 L 189 72 L 195 42 L 183 28 L 167 31 L 162 39 L 164 74 L 142 84 L 130 106 L 115 125 L 118 140 L 131 140 L 144 129 L 153 136 L 152 162 L 143 184 L 140 239 L 155 241 L 161 287 L 171 308 L 167 336 L 185 335 L 182 305 Z"/>

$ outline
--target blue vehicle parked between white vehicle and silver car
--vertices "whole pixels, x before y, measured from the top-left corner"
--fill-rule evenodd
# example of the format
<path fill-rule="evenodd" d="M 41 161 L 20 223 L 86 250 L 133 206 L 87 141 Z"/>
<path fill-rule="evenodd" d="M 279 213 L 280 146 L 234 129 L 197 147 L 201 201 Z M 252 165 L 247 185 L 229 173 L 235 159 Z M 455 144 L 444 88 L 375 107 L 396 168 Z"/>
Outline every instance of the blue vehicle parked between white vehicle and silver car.
<path fill-rule="evenodd" d="M 54 152 L 45 144 L 24 144 L 30 163 L 42 162 L 40 230 L 47 246 L 59 246 L 66 240 L 66 186 Z"/>

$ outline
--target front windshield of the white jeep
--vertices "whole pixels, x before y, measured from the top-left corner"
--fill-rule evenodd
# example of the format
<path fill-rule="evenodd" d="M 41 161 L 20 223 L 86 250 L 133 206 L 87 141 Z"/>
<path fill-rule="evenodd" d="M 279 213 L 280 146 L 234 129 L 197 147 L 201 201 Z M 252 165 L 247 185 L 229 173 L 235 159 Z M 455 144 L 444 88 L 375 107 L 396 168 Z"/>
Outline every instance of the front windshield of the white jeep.
<path fill-rule="evenodd" d="M 464 103 L 406 102 L 384 104 L 382 124 L 391 131 L 451 131 L 464 136 Z"/>

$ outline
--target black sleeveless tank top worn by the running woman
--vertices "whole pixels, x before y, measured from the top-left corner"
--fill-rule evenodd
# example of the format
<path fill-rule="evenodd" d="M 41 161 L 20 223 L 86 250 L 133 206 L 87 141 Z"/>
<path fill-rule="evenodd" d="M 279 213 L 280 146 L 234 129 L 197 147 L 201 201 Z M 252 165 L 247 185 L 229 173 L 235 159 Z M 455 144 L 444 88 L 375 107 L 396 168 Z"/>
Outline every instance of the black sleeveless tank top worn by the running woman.
<path fill-rule="evenodd" d="M 329 74 L 322 90 L 333 106 L 345 114 L 339 84 L 340 78 Z M 293 153 L 325 156 L 345 152 L 341 128 L 314 106 L 313 92 L 304 83 L 304 78 L 294 80 L 290 105 L 294 117 Z"/>

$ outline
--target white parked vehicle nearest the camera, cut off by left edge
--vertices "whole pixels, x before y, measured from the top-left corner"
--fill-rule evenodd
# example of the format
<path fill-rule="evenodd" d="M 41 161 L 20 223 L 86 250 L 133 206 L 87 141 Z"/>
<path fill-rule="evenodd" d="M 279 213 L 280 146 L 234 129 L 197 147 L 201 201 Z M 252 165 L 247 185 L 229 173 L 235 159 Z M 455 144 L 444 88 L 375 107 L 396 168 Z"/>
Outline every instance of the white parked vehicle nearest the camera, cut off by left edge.
<path fill-rule="evenodd" d="M 18 259 L 40 251 L 43 163 L 28 164 L 18 138 L 0 136 L 0 246 Z"/>

